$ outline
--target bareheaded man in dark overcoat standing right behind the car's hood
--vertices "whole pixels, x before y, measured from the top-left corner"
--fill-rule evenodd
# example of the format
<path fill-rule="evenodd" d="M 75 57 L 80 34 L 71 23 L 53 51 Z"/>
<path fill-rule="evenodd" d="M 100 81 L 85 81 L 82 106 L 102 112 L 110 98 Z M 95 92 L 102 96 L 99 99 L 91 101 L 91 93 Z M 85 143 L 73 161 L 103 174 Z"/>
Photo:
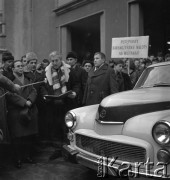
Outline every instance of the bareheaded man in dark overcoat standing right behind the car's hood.
<path fill-rule="evenodd" d="M 118 84 L 112 68 L 106 64 L 105 54 L 94 54 L 94 67 L 88 74 L 88 80 L 83 97 L 85 105 L 99 104 L 106 96 L 117 93 Z"/>

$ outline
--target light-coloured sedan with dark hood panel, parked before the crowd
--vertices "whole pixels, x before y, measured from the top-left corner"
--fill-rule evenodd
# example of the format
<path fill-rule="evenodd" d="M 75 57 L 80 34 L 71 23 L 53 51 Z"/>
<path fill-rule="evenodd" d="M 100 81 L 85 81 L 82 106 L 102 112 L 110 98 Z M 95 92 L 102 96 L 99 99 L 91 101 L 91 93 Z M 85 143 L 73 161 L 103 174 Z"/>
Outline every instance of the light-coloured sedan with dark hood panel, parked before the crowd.
<path fill-rule="evenodd" d="M 170 178 L 170 62 L 149 66 L 133 90 L 65 116 L 65 154 L 96 175 Z"/>

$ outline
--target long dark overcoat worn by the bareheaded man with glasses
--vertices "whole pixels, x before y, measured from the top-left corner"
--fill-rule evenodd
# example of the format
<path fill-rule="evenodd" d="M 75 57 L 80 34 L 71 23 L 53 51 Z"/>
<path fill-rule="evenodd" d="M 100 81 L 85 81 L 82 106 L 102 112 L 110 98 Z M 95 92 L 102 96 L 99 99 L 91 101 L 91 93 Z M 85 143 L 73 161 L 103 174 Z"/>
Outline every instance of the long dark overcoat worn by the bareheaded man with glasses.
<path fill-rule="evenodd" d="M 18 79 L 14 79 L 15 84 L 23 85 Z M 29 84 L 30 81 L 24 78 L 24 85 Z M 19 94 L 7 94 L 7 107 L 8 107 L 8 126 L 10 135 L 12 138 L 29 136 L 38 133 L 38 111 L 35 105 L 36 101 L 36 90 L 33 86 L 27 86 L 20 90 Z M 28 110 L 25 106 L 27 100 L 32 102 L 32 106 L 29 109 L 29 113 L 23 114 L 24 111 Z M 27 119 L 27 120 L 25 120 Z M 29 119 L 29 120 L 28 120 Z"/>

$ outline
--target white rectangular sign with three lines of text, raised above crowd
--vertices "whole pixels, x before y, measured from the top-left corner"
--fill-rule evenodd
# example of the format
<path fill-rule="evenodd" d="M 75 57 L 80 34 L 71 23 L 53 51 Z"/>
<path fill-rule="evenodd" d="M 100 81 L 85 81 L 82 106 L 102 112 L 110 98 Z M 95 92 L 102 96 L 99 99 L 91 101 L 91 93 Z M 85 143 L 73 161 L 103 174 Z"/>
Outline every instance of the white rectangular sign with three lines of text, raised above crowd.
<path fill-rule="evenodd" d="M 112 58 L 147 58 L 149 36 L 112 38 Z"/>

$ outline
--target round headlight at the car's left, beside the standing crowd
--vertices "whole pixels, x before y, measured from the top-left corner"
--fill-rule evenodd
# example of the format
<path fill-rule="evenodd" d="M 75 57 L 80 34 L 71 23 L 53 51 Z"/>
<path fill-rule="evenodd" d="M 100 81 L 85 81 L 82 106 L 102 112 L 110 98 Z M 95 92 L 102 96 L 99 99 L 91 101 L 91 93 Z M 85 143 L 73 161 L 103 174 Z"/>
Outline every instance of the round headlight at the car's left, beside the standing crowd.
<path fill-rule="evenodd" d="M 73 112 L 68 112 L 65 115 L 65 123 L 69 129 L 74 128 L 76 126 L 76 115 Z"/>

